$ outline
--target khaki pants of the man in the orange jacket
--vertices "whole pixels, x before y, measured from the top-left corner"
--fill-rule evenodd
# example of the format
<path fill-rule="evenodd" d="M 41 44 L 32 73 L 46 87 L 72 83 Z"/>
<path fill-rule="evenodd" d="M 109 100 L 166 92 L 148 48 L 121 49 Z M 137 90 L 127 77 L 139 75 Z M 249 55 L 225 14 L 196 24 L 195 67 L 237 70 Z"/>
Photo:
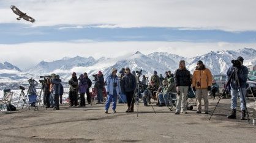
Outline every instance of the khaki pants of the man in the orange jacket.
<path fill-rule="evenodd" d="M 203 98 L 203 102 L 205 103 L 205 111 L 208 111 L 209 101 L 208 101 L 208 90 L 207 89 L 197 89 L 195 91 L 197 97 L 197 110 L 201 111 L 201 99 Z"/>

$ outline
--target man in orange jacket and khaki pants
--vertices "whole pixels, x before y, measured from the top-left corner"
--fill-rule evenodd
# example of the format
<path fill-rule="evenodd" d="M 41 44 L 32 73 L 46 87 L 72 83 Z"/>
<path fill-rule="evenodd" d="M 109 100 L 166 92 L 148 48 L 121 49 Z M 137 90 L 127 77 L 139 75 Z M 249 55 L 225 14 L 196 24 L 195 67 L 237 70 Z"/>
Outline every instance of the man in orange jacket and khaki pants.
<path fill-rule="evenodd" d="M 192 87 L 197 95 L 197 113 L 201 113 L 201 99 L 205 103 L 205 114 L 209 113 L 208 91 L 211 91 L 213 75 L 208 68 L 205 68 L 203 61 L 197 61 L 197 66 L 193 73 Z"/>

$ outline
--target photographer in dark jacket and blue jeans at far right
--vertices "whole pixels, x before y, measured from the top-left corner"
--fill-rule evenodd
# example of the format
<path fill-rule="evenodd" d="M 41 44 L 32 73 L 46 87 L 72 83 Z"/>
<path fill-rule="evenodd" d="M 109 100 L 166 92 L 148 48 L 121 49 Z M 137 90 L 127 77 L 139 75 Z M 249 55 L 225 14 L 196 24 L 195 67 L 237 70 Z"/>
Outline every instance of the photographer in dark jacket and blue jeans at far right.
<path fill-rule="evenodd" d="M 244 58 L 238 57 L 236 60 L 232 60 L 233 65 L 228 69 L 227 75 L 228 78 L 231 78 L 230 87 L 231 87 L 231 110 L 232 113 L 227 116 L 228 119 L 236 119 L 236 106 L 237 106 L 237 97 L 239 92 L 240 97 L 240 108 L 242 111 L 241 120 L 246 118 L 246 82 L 248 76 L 248 69 L 243 65 Z M 232 75 L 233 73 L 233 75 Z M 236 77 L 236 74 L 238 75 Z"/>

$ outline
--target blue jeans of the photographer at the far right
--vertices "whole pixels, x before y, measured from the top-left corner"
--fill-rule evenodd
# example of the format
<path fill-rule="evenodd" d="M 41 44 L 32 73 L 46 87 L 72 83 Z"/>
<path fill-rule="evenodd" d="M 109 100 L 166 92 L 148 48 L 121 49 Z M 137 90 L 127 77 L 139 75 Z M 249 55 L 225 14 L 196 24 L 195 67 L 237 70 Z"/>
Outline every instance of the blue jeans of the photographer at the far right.
<path fill-rule="evenodd" d="M 243 91 L 243 94 L 242 94 Z M 238 92 L 240 96 L 240 108 L 241 110 L 246 110 L 246 106 L 244 105 L 244 97 L 246 97 L 246 88 L 239 88 L 238 89 L 231 89 L 231 109 L 236 109 L 237 106 L 237 97 L 238 97 Z"/>

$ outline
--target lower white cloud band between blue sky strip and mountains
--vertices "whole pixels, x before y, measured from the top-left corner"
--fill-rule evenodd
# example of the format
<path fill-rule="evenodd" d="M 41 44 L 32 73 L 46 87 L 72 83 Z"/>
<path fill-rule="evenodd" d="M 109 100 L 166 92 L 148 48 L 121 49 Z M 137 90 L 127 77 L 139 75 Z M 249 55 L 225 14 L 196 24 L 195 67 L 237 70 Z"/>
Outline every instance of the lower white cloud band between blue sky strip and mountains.
<path fill-rule="evenodd" d="M 42 60 L 53 61 L 63 57 L 92 56 L 118 57 L 130 52 L 140 51 L 143 54 L 151 52 L 168 52 L 183 57 L 195 57 L 210 51 L 235 50 L 243 47 L 255 48 L 256 43 L 188 43 L 167 41 L 113 41 L 97 42 L 44 42 L 0 44 L 0 62 L 9 61 L 21 69 L 36 65 Z"/>

